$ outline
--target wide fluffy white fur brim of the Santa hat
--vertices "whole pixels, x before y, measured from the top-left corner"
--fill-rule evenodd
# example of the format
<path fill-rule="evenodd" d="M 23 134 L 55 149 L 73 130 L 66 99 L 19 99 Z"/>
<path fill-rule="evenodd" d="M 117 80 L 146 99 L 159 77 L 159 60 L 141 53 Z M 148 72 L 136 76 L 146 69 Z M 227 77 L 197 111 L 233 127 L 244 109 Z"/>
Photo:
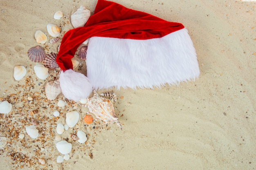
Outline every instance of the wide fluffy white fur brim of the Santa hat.
<path fill-rule="evenodd" d="M 92 37 L 86 58 L 87 76 L 95 89 L 153 88 L 194 80 L 200 74 L 186 29 L 150 40 Z"/>

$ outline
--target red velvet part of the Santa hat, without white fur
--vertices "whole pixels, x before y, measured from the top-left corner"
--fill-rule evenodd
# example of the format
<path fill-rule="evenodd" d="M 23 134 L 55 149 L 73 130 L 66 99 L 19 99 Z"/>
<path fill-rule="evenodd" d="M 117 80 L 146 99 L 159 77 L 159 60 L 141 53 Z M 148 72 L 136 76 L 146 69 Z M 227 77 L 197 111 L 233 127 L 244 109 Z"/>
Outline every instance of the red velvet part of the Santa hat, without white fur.
<path fill-rule="evenodd" d="M 147 40 L 160 38 L 183 28 L 177 22 L 168 22 L 115 2 L 98 0 L 94 14 L 85 26 L 65 33 L 56 62 L 63 71 L 73 69 L 71 59 L 77 48 L 93 36 Z"/>

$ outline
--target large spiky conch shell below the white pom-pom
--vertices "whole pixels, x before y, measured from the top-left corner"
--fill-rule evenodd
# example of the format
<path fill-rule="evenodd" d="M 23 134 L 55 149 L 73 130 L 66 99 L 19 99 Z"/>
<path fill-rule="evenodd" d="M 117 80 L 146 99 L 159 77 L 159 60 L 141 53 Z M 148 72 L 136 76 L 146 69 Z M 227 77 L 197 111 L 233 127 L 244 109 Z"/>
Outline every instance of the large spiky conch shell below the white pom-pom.
<path fill-rule="evenodd" d="M 101 97 L 96 91 L 93 91 L 93 97 L 88 98 L 87 104 L 82 104 L 81 106 L 88 107 L 88 113 L 95 115 L 95 121 L 101 119 L 104 124 L 114 124 L 116 122 L 122 130 L 121 123 L 115 115 L 114 106 L 110 99 Z"/>

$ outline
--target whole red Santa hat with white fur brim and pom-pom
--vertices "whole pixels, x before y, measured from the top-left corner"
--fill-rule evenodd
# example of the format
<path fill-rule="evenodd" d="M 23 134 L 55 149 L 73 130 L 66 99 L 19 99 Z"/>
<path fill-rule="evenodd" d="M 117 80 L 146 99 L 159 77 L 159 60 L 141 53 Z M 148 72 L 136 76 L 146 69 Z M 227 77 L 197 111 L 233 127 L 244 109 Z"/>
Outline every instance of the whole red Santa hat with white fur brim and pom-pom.
<path fill-rule="evenodd" d="M 72 70 L 71 59 L 88 38 L 85 77 Z M 98 0 L 85 26 L 65 33 L 56 62 L 62 93 L 74 101 L 88 97 L 92 88 L 153 88 L 200 74 L 193 42 L 182 24 L 106 0 Z"/>

